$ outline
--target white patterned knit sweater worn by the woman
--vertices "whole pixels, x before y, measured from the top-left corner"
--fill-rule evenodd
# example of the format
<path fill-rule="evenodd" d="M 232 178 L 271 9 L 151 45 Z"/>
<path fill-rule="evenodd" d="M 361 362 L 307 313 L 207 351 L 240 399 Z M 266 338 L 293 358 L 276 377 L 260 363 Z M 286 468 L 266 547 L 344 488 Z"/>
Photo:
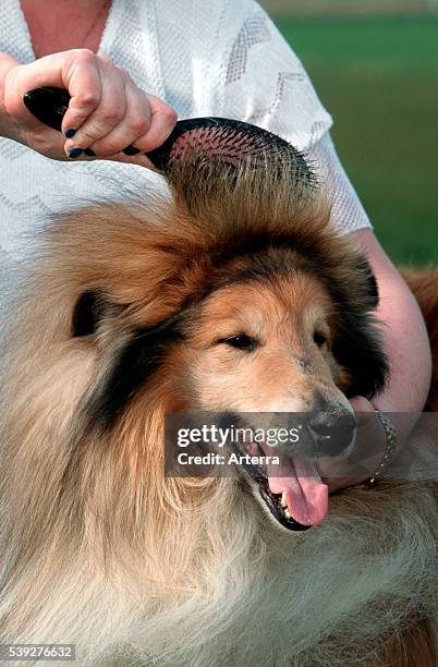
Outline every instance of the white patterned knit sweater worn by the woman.
<path fill-rule="evenodd" d="M 0 50 L 22 63 L 35 60 L 20 0 L 1 2 Z M 98 53 L 111 56 L 181 119 L 245 120 L 307 151 L 332 190 L 339 227 L 369 227 L 331 145 L 331 117 L 300 60 L 253 0 L 112 0 Z M 50 211 L 120 192 L 123 182 L 138 182 L 146 192 L 160 181 L 133 165 L 50 160 L 1 137 L 0 304 L 14 291 L 13 266 L 32 250 Z"/>

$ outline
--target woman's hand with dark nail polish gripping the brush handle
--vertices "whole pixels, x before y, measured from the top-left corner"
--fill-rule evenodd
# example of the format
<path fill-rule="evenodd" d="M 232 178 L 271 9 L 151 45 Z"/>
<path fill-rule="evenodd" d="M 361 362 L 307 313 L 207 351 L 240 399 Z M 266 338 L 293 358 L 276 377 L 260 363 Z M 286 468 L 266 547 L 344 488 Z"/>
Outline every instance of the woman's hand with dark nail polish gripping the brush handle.
<path fill-rule="evenodd" d="M 23 104 L 23 95 L 40 86 L 70 93 L 63 135 L 36 120 Z M 47 157 L 88 159 L 83 153 L 87 149 L 98 158 L 154 169 L 142 154 L 160 146 L 175 122 L 171 107 L 138 88 L 123 68 L 88 49 L 53 53 L 29 64 L 0 54 L 0 134 Z M 129 155 L 122 153 L 127 147 Z"/>

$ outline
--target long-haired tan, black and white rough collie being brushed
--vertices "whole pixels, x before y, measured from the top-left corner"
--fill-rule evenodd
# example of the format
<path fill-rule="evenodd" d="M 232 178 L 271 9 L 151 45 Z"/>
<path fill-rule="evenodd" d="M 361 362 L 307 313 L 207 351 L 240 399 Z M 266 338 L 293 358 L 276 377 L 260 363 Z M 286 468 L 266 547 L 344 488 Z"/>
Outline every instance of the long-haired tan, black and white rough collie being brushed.
<path fill-rule="evenodd" d="M 83 665 L 431 667 L 431 482 L 345 489 L 320 522 L 320 480 L 300 480 L 303 510 L 269 478 L 165 476 L 167 412 L 350 419 L 387 374 L 376 282 L 315 189 L 190 160 L 171 183 L 57 220 L 15 311 L 1 642 L 76 644 Z M 437 279 L 412 278 L 435 352 Z M 325 454 L 319 435 L 301 456 Z"/>

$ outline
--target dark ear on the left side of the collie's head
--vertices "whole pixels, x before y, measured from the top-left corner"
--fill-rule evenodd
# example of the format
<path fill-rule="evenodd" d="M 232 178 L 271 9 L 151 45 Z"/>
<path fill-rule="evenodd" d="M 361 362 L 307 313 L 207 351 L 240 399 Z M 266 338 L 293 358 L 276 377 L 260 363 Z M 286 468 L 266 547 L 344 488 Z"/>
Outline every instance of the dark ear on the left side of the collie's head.
<path fill-rule="evenodd" d="M 98 289 L 85 290 L 76 300 L 72 315 L 72 337 L 83 338 L 97 332 L 101 322 L 120 311 Z"/>

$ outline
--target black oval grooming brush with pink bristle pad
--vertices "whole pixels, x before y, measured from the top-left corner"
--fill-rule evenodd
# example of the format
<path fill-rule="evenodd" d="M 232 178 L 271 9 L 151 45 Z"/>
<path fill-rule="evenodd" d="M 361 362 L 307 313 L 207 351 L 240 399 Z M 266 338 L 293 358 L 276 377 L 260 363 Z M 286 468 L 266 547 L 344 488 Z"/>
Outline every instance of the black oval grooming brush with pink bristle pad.
<path fill-rule="evenodd" d="M 69 108 L 66 90 L 41 87 L 29 90 L 23 101 L 42 123 L 61 132 L 62 119 Z M 241 166 L 266 159 L 275 159 L 285 169 L 293 170 L 293 178 L 301 187 L 313 183 L 313 173 L 303 155 L 276 134 L 256 125 L 226 118 L 193 118 L 178 121 L 165 143 L 145 154 L 162 173 L 170 171 L 173 160 L 192 155 L 209 162 Z"/>

